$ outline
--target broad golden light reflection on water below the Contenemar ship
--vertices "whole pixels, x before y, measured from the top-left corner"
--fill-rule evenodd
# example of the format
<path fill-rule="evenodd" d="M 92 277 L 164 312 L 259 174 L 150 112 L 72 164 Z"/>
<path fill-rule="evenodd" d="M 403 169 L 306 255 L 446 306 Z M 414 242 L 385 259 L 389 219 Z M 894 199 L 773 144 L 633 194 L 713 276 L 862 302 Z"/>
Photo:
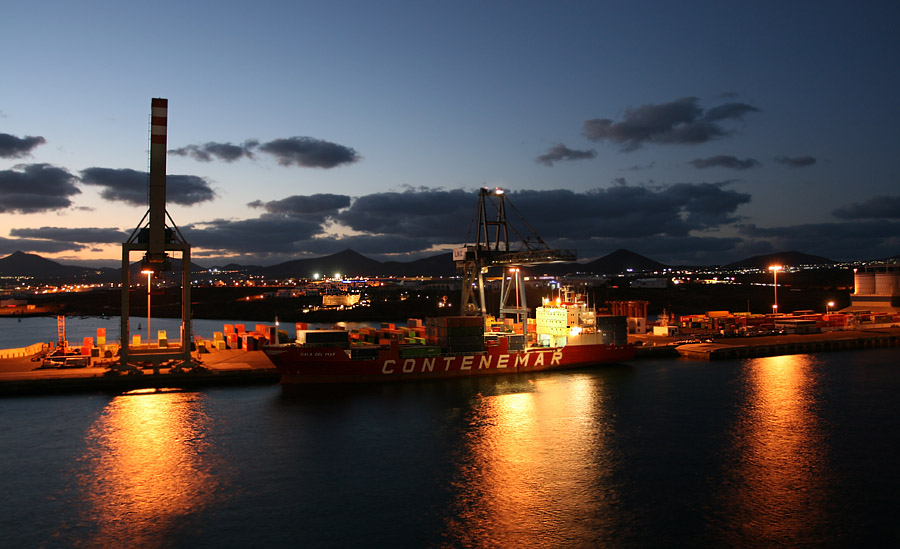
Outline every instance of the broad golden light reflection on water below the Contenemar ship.
<path fill-rule="evenodd" d="M 548 546 L 604 540 L 605 480 L 616 465 L 603 381 L 538 378 L 530 392 L 481 397 L 457 458 L 445 538 L 454 546 Z"/>

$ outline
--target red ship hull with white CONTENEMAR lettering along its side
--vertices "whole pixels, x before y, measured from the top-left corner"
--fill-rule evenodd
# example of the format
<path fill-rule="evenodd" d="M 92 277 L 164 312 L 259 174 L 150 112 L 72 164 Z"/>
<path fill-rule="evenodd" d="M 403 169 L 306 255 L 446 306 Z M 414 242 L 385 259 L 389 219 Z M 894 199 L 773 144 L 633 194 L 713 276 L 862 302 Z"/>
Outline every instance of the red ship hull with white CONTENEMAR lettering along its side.
<path fill-rule="evenodd" d="M 295 345 L 264 348 L 281 373 L 282 384 L 372 383 L 502 375 L 582 368 L 634 358 L 633 345 L 567 345 L 509 351 L 506 345 L 483 352 L 402 357 L 399 346 L 385 347 L 377 358 L 352 359 L 340 347 Z"/>

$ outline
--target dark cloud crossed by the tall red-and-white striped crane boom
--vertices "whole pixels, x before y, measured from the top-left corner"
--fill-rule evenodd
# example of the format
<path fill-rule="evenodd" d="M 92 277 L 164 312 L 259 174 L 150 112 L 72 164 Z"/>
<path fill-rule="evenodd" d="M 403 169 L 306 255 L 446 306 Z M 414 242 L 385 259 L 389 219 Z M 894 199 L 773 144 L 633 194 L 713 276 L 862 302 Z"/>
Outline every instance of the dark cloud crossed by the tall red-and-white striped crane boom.
<path fill-rule="evenodd" d="M 135 206 L 147 204 L 150 174 L 128 168 L 87 168 L 81 171 L 86 185 L 102 187 L 100 196 Z M 216 197 L 209 183 L 195 175 L 166 176 L 166 202 L 190 206 Z"/>

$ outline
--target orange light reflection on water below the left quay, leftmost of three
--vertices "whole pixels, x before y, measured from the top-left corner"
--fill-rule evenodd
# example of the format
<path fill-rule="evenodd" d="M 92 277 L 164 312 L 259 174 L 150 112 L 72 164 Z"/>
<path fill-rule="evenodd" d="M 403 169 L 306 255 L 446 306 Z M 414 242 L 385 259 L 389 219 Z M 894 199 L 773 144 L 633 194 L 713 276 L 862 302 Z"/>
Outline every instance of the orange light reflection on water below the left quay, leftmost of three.
<path fill-rule="evenodd" d="M 135 392 L 113 399 L 92 426 L 80 479 L 91 546 L 162 543 L 222 486 L 200 393 Z"/>

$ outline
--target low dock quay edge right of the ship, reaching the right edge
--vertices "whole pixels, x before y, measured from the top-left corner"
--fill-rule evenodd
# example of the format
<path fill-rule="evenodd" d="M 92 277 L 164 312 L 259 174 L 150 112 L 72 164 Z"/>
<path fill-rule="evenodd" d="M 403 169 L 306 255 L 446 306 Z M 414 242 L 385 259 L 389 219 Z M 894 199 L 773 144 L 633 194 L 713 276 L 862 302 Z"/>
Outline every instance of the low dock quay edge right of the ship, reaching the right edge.
<path fill-rule="evenodd" d="M 722 360 L 897 346 L 900 346 L 900 328 L 724 338 L 713 343 L 678 345 L 675 349 L 685 358 Z"/>

